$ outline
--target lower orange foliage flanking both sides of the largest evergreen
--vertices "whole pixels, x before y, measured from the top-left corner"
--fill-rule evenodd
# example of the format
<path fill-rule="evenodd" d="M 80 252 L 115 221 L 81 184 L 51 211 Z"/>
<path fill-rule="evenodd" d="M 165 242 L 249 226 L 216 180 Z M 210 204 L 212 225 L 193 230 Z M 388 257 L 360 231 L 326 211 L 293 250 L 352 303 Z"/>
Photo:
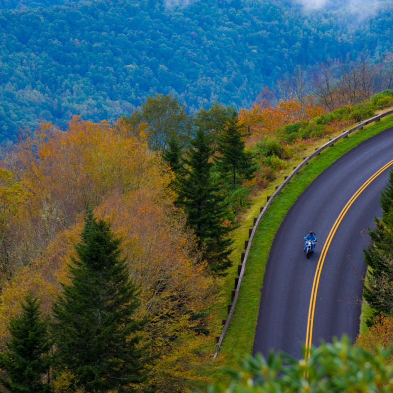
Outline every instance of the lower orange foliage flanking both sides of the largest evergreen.
<path fill-rule="evenodd" d="M 154 337 L 153 349 L 161 355 L 151 375 L 154 384 L 161 387 L 160 392 L 170 392 L 173 378 L 177 380 L 184 374 L 184 383 L 187 378 L 199 379 L 197 367 L 208 360 L 209 354 L 198 352 L 196 357 L 194 353 L 202 342 L 211 340 L 197 335 L 201 323 L 208 325 L 208 315 L 202 320 L 194 320 L 192 315 L 203 312 L 213 302 L 214 290 L 204 266 L 195 263 L 194 239 L 184 230 L 184 217 L 173 208 L 168 211 L 153 191 L 140 190 L 136 197 L 114 194 L 96 211 L 97 216 L 112 223 L 112 229 L 122 239 L 130 275 L 140 288 L 138 315 L 149 321 L 145 338 Z M 155 202 L 150 200 L 154 197 L 158 198 Z M 41 258 L 21 269 L 4 286 L 0 305 L 2 340 L 8 337 L 9 318 L 19 311 L 19 302 L 27 293 L 38 296 L 43 301 L 43 312 L 50 315 L 53 299 L 61 291 L 60 282 L 69 282 L 68 263 L 70 255 L 75 255 L 73 244 L 79 241 L 82 228 L 81 217 L 78 224 L 61 232 L 48 245 Z"/>

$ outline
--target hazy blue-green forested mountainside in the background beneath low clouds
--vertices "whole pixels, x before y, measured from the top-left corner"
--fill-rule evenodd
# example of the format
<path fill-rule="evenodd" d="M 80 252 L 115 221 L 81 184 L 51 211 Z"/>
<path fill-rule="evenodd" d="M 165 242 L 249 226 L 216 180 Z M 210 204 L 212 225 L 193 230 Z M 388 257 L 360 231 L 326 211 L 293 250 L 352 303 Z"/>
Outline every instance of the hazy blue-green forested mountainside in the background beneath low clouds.
<path fill-rule="evenodd" d="M 154 93 L 190 113 L 215 101 L 248 108 L 265 86 L 276 98 L 288 93 L 282 81 L 299 65 L 309 81 L 328 60 L 337 68 L 359 54 L 382 69 L 390 3 L 354 11 L 345 0 L 319 9 L 289 0 L 1 0 L 0 141 L 41 120 L 64 129 L 73 115 L 114 120 Z"/>

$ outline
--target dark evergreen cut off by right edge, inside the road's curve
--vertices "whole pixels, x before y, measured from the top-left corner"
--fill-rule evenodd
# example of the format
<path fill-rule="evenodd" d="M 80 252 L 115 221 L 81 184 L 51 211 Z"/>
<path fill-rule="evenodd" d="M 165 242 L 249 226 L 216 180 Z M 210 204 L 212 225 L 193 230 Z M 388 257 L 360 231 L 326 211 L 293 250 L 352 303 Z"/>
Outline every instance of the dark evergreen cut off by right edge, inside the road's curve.
<path fill-rule="evenodd" d="M 382 218 L 375 218 L 375 229 L 369 228 L 371 243 L 364 250 L 369 266 L 363 295 L 374 309 L 374 315 L 393 315 L 393 169 L 389 183 L 381 193 Z M 372 323 L 372 317 L 368 324 Z"/>

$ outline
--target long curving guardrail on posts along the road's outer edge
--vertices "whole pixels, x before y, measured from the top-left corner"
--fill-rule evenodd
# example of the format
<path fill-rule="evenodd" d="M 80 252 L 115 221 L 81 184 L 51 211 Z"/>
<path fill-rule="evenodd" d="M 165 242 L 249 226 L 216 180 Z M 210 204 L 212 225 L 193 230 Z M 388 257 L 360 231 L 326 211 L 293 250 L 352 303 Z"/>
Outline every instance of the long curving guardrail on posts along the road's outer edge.
<path fill-rule="evenodd" d="M 236 306 L 236 303 L 237 303 L 237 299 L 239 297 L 240 286 L 241 286 L 241 283 L 242 283 L 242 280 L 243 280 L 243 276 L 244 276 L 244 272 L 245 272 L 245 268 L 246 268 L 247 258 L 248 258 L 249 253 L 250 253 L 250 248 L 251 248 L 251 244 L 253 242 L 253 237 L 255 235 L 256 229 L 258 228 L 258 225 L 259 225 L 262 217 L 265 215 L 267 209 L 272 204 L 272 202 L 275 199 L 275 197 L 277 197 L 281 193 L 282 189 L 290 182 L 290 180 L 295 176 L 295 174 L 298 173 L 299 170 L 302 169 L 304 166 L 306 166 L 312 158 L 318 156 L 322 150 L 325 150 L 327 147 L 333 146 L 337 142 L 337 140 L 341 140 L 343 138 L 348 137 L 348 135 L 351 134 L 352 132 L 363 129 L 363 127 L 365 125 L 373 123 L 373 122 L 376 122 L 376 121 L 379 121 L 379 120 L 381 120 L 382 117 L 388 116 L 388 115 L 390 115 L 392 113 L 393 113 L 393 110 L 390 110 L 390 111 L 378 114 L 378 115 L 376 115 L 374 117 L 371 117 L 371 118 L 369 118 L 369 119 L 367 119 L 367 120 L 365 120 L 363 122 L 360 122 L 355 127 L 352 127 L 349 130 L 343 131 L 336 138 L 334 138 L 332 140 L 329 140 L 327 143 L 323 144 L 321 147 L 318 147 L 317 149 L 315 149 L 315 151 L 312 154 L 310 154 L 308 157 L 305 157 L 304 160 L 302 161 L 302 163 L 299 164 L 297 167 L 295 167 L 293 169 L 293 171 L 290 173 L 290 175 L 285 178 L 283 183 L 281 183 L 281 185 L 276 188 L 275 193 L 271 197 L 268 197 L 268 201 L 267 201 L 266 205 L 263 208 L 261 208 L 261 212 L 259 213 L 259 216 L 257 217 L 256 220 L 254 220 L 253 228 L 250 229 L 249 240 L 245 241 L 245 249 L 246 249 L 246 251 L 245 251 L 245 253 L 242 253 L 241 265 L 238 266 L 239 278 L 235 279 L 235 289 L 232 290 L 232 303 L 228 305 L 228 316 L 224 320 L 225 323 L 223 321 L 224 328 L 223 328 L 223 331 L 221 333 L 221 336 L 218 338 L 218 343 L 217 343 L 217 346 L 216 346 L 216 351 L 213 354 L 213 359 L 215 359 L 217 357 L 217 355 L 218 355 L 218 353 L 220 351 L 221 345 L 222 345 L 222 343 L 224 341 L 224 337 L 226 335 L 226 332 L 228 330 L 230 321 L 231 321 L 233 313 L 235 311 L 235 306 Z"/>

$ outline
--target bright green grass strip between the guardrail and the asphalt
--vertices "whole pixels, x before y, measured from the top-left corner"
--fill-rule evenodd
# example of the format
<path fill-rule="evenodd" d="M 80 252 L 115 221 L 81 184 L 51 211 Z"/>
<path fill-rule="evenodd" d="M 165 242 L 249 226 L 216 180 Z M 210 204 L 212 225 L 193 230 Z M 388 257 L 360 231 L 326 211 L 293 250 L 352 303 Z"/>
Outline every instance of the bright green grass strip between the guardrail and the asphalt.
<path fill-rule="evenodd" d="M 218 364 L 214 367 L 214 379 L 217 383 L 225 384 L 228 381 L 225 373 L 217 373 L 218 368 L 237 368 L 239 359 L 252 353 L 265 267 L 273 239 L 288 209 L 307 186 L 339 157 L 392 126 L 393 116 L 387 116 L 363 130 L 350 134 L 348 138 L 337 141 L 334 146 L 322 151 L 309 162 L 309 165 L 302 168 L 272 202 L 254 235 L 236 309 L 216 359 Z"/>

